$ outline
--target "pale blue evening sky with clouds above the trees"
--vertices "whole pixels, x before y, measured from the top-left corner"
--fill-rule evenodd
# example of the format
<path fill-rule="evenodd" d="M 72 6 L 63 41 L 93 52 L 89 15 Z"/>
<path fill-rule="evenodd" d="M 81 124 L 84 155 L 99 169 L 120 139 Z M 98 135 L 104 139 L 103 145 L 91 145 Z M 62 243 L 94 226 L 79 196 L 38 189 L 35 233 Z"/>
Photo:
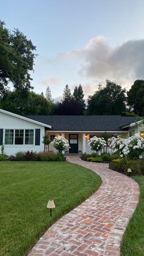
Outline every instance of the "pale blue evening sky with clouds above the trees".
<path fill-rule="evenodd" d="M 59 99 L 68 84 L 85 98 L 110 79 L 144 79 L 143 0 L 1 0 L 0 19 L 37 47 L 32 86 Z"/>

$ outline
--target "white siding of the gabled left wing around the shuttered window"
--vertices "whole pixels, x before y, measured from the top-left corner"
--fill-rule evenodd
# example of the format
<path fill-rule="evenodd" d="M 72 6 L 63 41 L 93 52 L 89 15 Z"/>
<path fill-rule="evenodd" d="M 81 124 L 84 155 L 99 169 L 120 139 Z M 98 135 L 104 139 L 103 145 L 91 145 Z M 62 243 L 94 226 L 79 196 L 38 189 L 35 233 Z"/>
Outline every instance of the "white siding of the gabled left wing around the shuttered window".
<path fill-rule="evenodd" d="M 40 145 L 4 145 L 4 152 L 8 155 L 15 155 L 19 151 L 32 150 L 35 152 L 40 152 L 44 150 L 44 145 L 42 143 L 43 136 L 45 135 L 45 127 L 37 125 L 35 123 L 28 122 L 18 117 L 13 117 L 9 114 L 4 114 L 0 112 L 0 129 L 34 129 L 34 144 L 35 144 L 35 129 L 40 129 Z M 4 143 L 4 136 L 3 136 Z M 0 150 L 1 152 L 1 150 Z"/>

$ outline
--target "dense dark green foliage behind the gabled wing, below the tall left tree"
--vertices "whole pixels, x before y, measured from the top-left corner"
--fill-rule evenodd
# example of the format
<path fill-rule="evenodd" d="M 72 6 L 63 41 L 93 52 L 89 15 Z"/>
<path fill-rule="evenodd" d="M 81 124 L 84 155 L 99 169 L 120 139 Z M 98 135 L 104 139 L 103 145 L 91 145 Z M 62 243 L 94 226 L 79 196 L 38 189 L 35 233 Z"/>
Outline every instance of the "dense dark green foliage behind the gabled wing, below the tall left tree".
<path fill-rule="evenodd" d="M 20 115 L 48 115 L 54 104 L 35 92 L 7 92 L 0 102 L 0 108 Z"/>

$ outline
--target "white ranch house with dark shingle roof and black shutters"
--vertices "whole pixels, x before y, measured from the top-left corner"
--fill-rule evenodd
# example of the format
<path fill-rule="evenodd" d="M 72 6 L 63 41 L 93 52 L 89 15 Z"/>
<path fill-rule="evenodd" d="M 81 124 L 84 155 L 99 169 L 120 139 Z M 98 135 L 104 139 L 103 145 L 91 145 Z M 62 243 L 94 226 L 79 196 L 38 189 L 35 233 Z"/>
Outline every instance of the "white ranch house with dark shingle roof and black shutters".
<path fill-rule="evenodd" d="M 48 134 L 51 141 L 56 136 L 68 139 L 68 153 L 87 152 L 88 139 L 93 136 L 134 133 L 144 135 L 144 127 L 136 117 L 121 115 L 21 115 L 0 109 L 0 145 L 5 153 L 14 155 L 18 151 L 44 150 L 43 136 Z M 54 150 L 50 145 L 49 150 Z M 1 152 L 1 150 L 0 150 Z"/>

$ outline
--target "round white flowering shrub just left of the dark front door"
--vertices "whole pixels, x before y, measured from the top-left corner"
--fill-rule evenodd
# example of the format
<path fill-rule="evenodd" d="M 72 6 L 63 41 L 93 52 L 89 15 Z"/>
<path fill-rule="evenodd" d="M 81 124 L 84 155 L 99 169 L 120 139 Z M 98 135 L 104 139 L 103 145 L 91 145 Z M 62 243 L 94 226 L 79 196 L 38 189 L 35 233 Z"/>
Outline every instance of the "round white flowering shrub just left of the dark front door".
<path fill-rule="evenodd" d="M 51 144 L 59 151 L 59 153 L 62 153 L 62 151 L 68 150 L 68 148 L 70 148 L 68 140 L 64 137 L 55 137 Z"/>

